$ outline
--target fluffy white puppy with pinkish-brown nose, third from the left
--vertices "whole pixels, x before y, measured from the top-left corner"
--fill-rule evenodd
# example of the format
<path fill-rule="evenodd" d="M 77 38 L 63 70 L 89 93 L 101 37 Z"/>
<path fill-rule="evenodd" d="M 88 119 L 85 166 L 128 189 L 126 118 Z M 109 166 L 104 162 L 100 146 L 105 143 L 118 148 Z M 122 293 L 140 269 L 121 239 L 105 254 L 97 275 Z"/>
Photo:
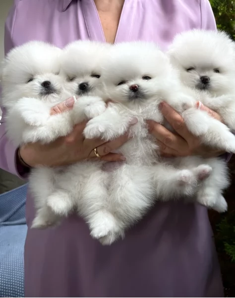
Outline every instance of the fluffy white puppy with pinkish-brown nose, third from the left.
<path fill-rule="evenodd" d="M 156 195 L 164 200 L 180 195 L 191 196 L 199 184 L 203 189 L 204 181 L 217 169 L 217 164 L 212 159 L 205 162 L 199 157 L 192 157 L 189 164 L 186 160 L 178 160 L 175 162 L 177 168 L 159 162 L 157 145 L 149 135 L 145 121 L 163 122 L 158 109 L 162 100 L 182 111 L 183 104 L 194 99 L 182 91 L 169 58 L 156 45 L 142 42 L 117 44 L 107 57 L 104 69 L 107 94 L 116 103 L 88 122 L 85 137 L 112 140 L 127 132 L 133 117 L 138 119 L 129 131 L 133 138 L 119 149 L 126 162 L 110 173 L 109 201 L 104 209 L 114 218 L 112 223 L 104 214 L 106 229 L 100 233 L 105 242 L 112 243 L 123 235 L 127 226 L 146 213 Z M 227 180 L 223 180 L 220 171 L 218 176 L 222 179 L 218 188 L 223 189 Z M 203 199 L 198 198 L 198 201 L 217 208 L 217 202 L 208 201 L 206 194 Z M 224 199 L 223 204 L 226 205 Z"/>

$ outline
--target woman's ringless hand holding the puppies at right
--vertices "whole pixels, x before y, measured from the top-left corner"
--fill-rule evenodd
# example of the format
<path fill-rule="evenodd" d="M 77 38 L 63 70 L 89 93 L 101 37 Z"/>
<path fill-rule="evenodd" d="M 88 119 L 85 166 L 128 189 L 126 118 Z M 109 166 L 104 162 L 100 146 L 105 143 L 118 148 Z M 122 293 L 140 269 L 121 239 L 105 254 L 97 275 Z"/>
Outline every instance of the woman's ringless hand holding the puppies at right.
<path fill-rule="evenodd" d="M 222 121 L 219 114 L 205 107 L 201 102 L 198 102 L 197 106 L 201 110 L 208 112 L 212 117 Z M 225 153 L 224 151 L 202 145 L 200 139 L 188 131 L 183 118 L 166 102 L 163 102 L 159 108 L 178 134 L 173 134 L 155 121 L 148 121 L 149 132 L 158 140 L 162 156 L 200 155 L 203 157 L 216 157 Z"/>

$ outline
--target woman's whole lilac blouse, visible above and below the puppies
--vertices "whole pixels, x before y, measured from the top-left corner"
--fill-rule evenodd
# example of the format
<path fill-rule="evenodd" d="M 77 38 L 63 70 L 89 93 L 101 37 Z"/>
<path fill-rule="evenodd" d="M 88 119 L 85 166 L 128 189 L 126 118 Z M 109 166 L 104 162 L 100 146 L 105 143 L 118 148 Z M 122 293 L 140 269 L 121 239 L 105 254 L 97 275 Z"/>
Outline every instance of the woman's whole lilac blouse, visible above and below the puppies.
<path fill-rule="evenodd" d="M 176 33 L 216 29 L 208 0 L 125 0 L 115 42 L 154 41 L 166 49 Z M 76 39 L 105 42 L 93 0 L 15 0 L 5 23 L 5 53 L 30 40 L 59 47 Z M 0 167 L 24 176 L 16 148 L 0 125 Z M 26 219 L 34 218 L 28 194 Z M 56 228 L 28 229 L 26 297 L 223 297 L 206 208 L 160 203 L 102 246 L 84 221 L 70 216 Z"/>

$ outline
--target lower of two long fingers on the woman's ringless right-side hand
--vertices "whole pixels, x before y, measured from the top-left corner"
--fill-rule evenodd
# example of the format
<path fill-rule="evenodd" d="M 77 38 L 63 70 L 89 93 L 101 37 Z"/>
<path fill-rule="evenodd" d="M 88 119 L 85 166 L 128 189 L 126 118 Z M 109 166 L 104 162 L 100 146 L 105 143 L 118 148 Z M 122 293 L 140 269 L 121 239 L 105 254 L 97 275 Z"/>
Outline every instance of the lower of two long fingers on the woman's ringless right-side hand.
<path fill-rule="evenodd" d="M 176 151 L 184 151 L 187 149 L 187 143 L 180 136 L 174 135 L 161 124 L 148 120 L 149 133 L 153 135 L 159 142 Z"/>

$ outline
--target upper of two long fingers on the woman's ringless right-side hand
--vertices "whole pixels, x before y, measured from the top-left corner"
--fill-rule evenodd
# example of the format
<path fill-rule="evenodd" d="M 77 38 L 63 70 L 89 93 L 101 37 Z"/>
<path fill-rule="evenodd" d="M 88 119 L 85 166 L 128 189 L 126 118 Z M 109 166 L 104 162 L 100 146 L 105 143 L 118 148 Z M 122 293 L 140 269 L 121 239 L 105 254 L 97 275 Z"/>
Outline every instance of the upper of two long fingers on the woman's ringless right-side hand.
<path fill-rule="evenodd" d="M 191 138 L 194 138 L 193 135 L 188 131 L 183 118 L 176 112 L 176 110 L 174 110 L 166 102 L 162 102 L 159 105 L 159 108 L 169 124 L 184 140 L 188 141 Z"/>

